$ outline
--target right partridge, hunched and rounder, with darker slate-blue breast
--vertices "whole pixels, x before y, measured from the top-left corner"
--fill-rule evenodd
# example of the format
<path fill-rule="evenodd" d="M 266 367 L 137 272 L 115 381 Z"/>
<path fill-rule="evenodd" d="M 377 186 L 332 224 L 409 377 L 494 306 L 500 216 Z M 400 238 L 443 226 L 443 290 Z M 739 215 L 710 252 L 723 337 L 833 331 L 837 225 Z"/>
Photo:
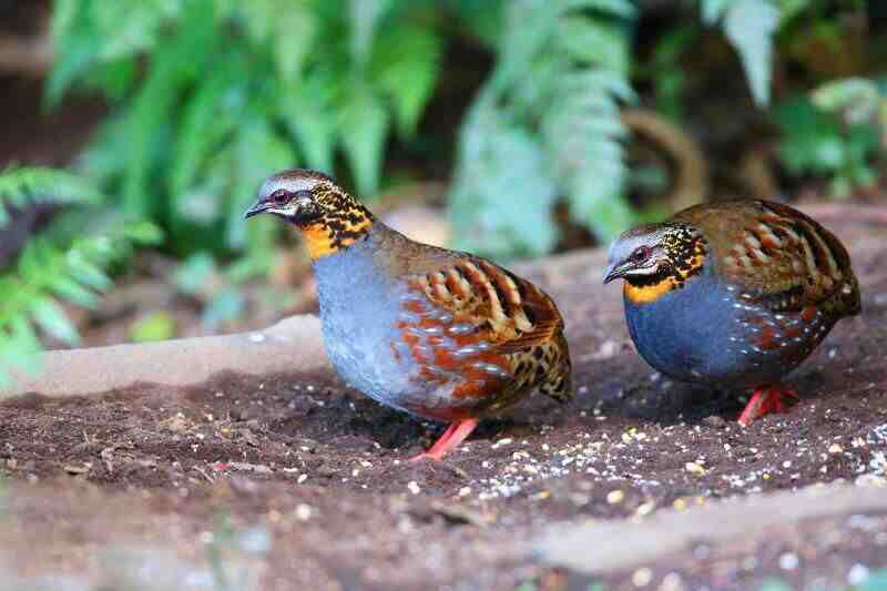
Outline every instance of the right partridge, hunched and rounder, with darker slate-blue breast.
<path fill-rule="evenodd" d="M 625 232 L 604 283 L 620 277 L 641 356 L 679 380 L 755 389 L 742 425 L 784 411 L 783 396 L 797 395 L 781 380 L 860 309 L 840 242 L 767 201 L 697 205 Z"/>

